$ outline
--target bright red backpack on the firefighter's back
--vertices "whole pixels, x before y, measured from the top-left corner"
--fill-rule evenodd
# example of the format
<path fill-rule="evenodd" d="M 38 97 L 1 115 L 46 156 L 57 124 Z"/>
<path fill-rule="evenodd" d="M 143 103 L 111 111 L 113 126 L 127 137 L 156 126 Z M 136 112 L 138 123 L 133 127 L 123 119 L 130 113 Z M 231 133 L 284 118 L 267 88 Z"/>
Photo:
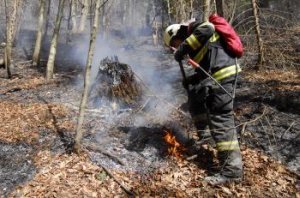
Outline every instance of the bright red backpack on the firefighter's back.
<path fill-rule="evenodd" d="M 229 53 L 236 58 L 242 57 L 244 52 L 243 44 L 233 27 L 223 17 L 217 14 L 211 15 L 209 22 L 214 24 L 216 32 L 225 41 L 226 49 Z"/>

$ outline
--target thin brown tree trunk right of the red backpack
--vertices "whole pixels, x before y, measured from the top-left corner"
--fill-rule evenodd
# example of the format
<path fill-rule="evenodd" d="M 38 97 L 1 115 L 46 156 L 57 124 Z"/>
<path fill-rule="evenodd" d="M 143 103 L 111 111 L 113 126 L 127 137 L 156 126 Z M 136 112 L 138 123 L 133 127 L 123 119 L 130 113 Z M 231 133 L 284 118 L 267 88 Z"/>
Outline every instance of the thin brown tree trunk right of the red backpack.
<path fill-rule="evenodd" d="M 258 9 L 256 0 L 252 0 L 252 7 L 253 7 L 253 16 L 255 18 L 255 32 L 257 38 L 257 45 L 258 45 L 258 62 L 256 65 L 256 69 L 259 69 L 259 65 L 262 65 L 264 62 L 264 52 L 263 52 L 263 40 L 261 38 L 260 33 L 260 24 L 259 24 L 259 16 L 258 16 Z"/>

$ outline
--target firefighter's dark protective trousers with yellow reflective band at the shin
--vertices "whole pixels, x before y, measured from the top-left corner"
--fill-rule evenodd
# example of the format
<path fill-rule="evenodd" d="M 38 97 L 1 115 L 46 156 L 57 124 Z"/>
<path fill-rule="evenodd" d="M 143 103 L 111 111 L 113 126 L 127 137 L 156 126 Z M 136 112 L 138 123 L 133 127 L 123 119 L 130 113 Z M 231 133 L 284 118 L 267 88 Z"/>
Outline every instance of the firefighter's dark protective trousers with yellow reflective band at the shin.
<path fill-rule="evenodd" d="M 227 177 L 241 177 L 243 163 L 234 124 L 233 100 L 212 84 L 195 86 L 189 92 L 189 111 L 200 138 L 209 126 L 218 151 L 220 173 Z M 233 92 L 233 80 L 221 84 L 229 93 Z"/>

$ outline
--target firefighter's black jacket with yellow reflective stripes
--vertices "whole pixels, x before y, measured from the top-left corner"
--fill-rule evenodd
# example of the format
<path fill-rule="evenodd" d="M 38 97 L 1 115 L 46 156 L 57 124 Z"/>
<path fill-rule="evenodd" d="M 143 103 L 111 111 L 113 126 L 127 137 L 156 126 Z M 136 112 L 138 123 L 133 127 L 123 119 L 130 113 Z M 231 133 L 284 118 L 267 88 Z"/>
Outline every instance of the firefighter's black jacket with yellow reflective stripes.
<path fill-rule="evenodd" d="M 194 22 L 188 29 L 189 37 L 178 48 L 181 54 L 188 54 L 219 81 L 241 71 L 240 67 L 229 69 L 235 65 L 235 59 L 226 52 L 226 46 L 212 23 Z M 206 77 L 201 71 L 200 76 Z"/>

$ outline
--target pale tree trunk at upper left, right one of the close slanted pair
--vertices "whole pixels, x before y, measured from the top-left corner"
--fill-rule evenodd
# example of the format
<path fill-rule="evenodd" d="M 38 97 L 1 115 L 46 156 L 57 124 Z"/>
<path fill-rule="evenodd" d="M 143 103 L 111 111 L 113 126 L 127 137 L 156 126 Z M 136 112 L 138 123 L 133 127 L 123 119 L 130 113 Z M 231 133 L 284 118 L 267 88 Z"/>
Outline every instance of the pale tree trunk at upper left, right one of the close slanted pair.
<path fill-rule="evenodd" d="M 47 74 L 46 74 L 47 80 L 50 80 L 53 78 L 56 47 L 57 47 L 57 42 L 58 42 L 60 24 L 61 24 L 62 15 L 63 15 L 64 3 L 65 3 L 65 0 L 60 0 L 59 5 L 58 5 L 56 20 L 55 20 L 55 28 L 53 31 L 50 52 L 49 52 L 49 58 L 48 58 L 48 62 L 47 62 Z"/>

